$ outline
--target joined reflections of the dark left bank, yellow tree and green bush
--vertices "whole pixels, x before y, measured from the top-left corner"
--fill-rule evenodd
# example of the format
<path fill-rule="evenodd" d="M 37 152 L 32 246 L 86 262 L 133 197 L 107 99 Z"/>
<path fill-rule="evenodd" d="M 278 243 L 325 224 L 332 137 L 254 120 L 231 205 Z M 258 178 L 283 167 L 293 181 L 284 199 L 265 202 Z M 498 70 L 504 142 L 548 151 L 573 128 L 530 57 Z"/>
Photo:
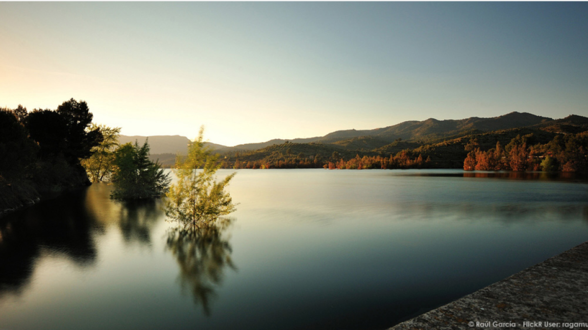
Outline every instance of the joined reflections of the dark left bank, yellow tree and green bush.
<path fill-rule="evenodd" d="M 98 254 L 94 235 L 111 224 L 119 227 L 125 243 L 150 246 L 152 225 L 163 216 L 161 200 L 118 203 L 110 200 L 110 191 L 107 184 L 93 184 L 2 217 L 0 297 L 22 292 L 45 252 L 91 267 Z"/>

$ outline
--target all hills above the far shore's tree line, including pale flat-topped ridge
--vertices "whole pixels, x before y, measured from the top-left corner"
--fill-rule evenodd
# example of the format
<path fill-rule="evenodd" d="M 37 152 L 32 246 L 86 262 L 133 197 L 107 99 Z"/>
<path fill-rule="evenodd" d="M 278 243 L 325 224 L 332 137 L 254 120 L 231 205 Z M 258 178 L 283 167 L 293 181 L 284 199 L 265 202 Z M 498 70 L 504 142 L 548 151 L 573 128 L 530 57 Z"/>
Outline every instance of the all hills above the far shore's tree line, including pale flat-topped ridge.
<path fill-rule="evenodd" d="M 396 154 L 402 150 L 416 150 L 442 159 L 448 153 L 456 160 L 463 157 L 464 139 L 472 136 L 487 140 L 488 145 L 508 143 L 516 134 L 531 134 L 541 140 L 551 139 L 553 134 L 580 133 L 588 130 L 588 118 L 570 115 L 563 119 L 536 116 L 532 113 L 511 112 L 497 117 L 469 117 L 466 119 L 410 120 L 371 130 L 339 130 L 325 136 L 302 139 L 272 139 L 261 143 L 239 144 L 226 147 L 207 143 L 227 160 L 255 161 L 281 159 L 280 157 L 310 157 L 309 159 L 333 159 L 337 154 L 354 157 L 356 154 L 374 156 Z M 543 132 L 543 133 L 542 133 Z M 545 134 L 544 134 L 545 133 Z M 514 134 L 514 136 L 513 136 Z M 145 141 L 145 136 L 121 136 L 120 142 Z M 449 141 L 453 141 L 449 143 Z M 151 158 L 159 159 L 165 166 L 173 166 L 175 154 L 187 151 L 189 139 L 184 136 L 150 136 Z M 459 162 L 456 162 L 458 164 Z"/>

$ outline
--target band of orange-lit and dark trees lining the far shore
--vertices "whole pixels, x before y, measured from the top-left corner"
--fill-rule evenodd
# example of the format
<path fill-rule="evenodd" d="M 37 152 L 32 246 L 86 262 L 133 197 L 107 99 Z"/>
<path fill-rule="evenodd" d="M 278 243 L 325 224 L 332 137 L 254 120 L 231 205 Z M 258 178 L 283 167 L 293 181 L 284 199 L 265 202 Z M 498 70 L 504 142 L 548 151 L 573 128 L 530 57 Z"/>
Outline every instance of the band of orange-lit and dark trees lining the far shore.
<path fill-rule="evenodd" d="M 466 134 L 399 151 L 335 150 L 317 143 L 282 143 L 260 150 L 225 153 L 224 169 L 464 169 L 512 171 L 588 170 L 588 132 L 530 129 Z M 159 155 L 154 155 L 159 156 Z"/>

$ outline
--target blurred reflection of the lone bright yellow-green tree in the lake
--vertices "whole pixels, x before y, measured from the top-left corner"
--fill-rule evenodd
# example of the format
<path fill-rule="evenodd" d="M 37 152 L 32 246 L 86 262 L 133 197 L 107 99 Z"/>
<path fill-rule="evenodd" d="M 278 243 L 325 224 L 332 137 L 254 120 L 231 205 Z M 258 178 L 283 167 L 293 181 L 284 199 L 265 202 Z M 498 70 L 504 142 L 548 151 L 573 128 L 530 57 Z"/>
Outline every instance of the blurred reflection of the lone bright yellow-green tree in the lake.
<path fill-rule="evenodd" d="M 218 218 L 209 225 L 181 225 L 168 231 L 167 248 L 178 262 L 182 290 L 192 294 L 195 304 L 202 304 L 207 316 L 226 267 L 236 270 L 228 238 L 223 237 L 232 222 Z"/>

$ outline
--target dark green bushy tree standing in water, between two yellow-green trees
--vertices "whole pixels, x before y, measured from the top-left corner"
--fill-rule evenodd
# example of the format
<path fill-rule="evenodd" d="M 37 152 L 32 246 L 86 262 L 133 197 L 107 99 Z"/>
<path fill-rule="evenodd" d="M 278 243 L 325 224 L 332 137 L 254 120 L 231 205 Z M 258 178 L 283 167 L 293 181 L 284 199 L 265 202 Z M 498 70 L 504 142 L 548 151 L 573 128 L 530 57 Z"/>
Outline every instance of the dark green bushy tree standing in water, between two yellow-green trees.
<path fill-rule="evenodd" d="M 148 158 L 149 144 L 125 143 L 115 153 L 116 170 L 112 175 L 115 188 L 111 198 L 116 200 L 138 200 L 160 197 L 168 189 L 169 174 L 158 163 Z"/>

